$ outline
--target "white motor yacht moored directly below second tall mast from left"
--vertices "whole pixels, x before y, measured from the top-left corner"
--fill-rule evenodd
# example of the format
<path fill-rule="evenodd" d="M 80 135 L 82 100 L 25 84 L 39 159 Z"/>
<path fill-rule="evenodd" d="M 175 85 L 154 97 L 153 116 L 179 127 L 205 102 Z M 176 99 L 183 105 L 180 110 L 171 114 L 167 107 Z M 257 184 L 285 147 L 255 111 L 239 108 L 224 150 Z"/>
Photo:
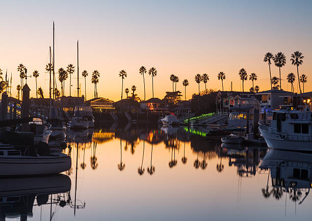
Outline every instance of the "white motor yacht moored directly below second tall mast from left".
<path fill-rule="evenodd" d="M 69 122 L 71 129 L 88 129 L 94 127 L 94 117 L 91 106 L 76 106 L 74 116 Z"/>

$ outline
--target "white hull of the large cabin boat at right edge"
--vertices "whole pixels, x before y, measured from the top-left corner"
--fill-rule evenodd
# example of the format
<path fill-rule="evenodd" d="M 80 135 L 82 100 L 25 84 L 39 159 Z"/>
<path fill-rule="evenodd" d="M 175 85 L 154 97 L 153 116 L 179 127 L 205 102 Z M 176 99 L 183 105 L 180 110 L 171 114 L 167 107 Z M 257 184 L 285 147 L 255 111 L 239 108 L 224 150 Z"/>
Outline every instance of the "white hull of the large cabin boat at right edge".
<path fill-rule="evenodd" d="M 269 148 L 294 151 L 312 151 L 312 141 L 296 141 L 283 139 L 281 135 L 272 133 L 259 127 L 259 132 L 263 136 Z"/>

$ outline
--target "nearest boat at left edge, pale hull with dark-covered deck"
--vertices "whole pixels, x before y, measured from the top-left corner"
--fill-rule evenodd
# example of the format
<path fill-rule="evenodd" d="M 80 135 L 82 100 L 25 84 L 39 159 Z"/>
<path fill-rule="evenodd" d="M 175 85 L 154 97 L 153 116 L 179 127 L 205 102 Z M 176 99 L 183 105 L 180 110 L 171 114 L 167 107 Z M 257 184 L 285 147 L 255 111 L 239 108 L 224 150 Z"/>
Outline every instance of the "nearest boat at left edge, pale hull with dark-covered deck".
<path fill-rule="evenodd" d="M 0 176 L 58 174 L 71 167 L 71 158 L 63 153 L 49 154 L 36 146 L 12 146 L 0 143 Z"/>

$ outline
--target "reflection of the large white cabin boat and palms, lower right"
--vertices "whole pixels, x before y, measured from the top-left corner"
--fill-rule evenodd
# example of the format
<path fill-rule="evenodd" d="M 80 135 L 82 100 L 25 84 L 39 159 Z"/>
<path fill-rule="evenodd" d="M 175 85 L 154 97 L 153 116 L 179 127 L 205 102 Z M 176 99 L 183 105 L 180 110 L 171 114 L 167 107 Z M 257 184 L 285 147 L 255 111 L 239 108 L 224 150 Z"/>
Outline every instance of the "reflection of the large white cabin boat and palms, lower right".
<path fill-rule="evenodd" d="M 270 149 L 261 161 L 261 169 L 269 169 L 266 188 L 262 189 L 263 196 L 281 199 L 287 195 L 293 202 L 301 204 L 309 194 L 312 183 L 312 154 L 293 151 Z M 271 176 L 272 188 L 269 187 Z"/>

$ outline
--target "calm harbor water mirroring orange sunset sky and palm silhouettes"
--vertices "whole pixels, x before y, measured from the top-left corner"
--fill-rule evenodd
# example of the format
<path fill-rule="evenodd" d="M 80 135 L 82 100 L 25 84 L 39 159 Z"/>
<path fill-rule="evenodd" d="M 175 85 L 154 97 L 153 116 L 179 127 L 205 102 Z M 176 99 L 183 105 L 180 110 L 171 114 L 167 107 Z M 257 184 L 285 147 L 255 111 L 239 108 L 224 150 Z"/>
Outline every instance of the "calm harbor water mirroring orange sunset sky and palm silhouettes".
<path fill-rule="evenodd" d="M 70 131 L 71 170 L 53 177 L 3 179 L 2 195 L 10 192 L 12 199 L 1 198 L 0 207 L 11 211 L 12 218 L 14 211 L 28 214 L 28 220 L 310 216 L 311 196 L 299 204 L 305 191 L 297 198 L 291 191 L 278 191 L 269 170 L 258 167 L 266 149 L 230 149 L 206 139 L 205 132 L 204 128 L 111 123 Z M 25 185 L 33 186 L 33 191 L 25 194 Z"/>

